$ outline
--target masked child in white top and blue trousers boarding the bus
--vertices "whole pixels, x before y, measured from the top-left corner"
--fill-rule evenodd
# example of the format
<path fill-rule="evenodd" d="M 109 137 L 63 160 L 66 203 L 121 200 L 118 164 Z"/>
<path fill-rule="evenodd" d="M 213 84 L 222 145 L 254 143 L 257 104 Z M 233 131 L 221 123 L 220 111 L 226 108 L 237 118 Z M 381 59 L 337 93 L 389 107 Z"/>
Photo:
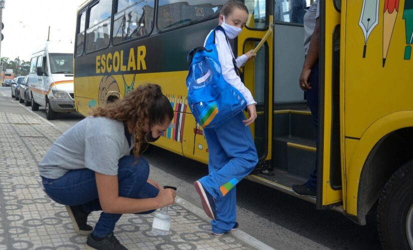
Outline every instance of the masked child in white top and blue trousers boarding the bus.
<path fill-rule="evenodd" d="M 211 225 L 214 235 L 222 235 L 238 229 L 235 185 L 248 175 L 258 162 L 257 151 L 249 128 L 257 117 L 256 102 L 235 71 L 232 48 L 227 39 L 237 37 L 247 19 L 248 9 L 244 3 L 229 0 L 222 6 L 219 15 L 219 25 L 225 33 L 220 29 L 215 31 L 215 44 L 222 76 L 247 100 L 249 118 L 245 117 L 244 112 L 240 112 L 218 127 L 204 128 L 209 150 L 209 175 L 195 181 L 194 185 L 201 196 L 206 214 L 213 219 Z M 213 35 L 212 31 L 209 35 Z M 248 51 L 235 59 L 236 66 L 241 67 L 255 56 L 253 50 Z"/>

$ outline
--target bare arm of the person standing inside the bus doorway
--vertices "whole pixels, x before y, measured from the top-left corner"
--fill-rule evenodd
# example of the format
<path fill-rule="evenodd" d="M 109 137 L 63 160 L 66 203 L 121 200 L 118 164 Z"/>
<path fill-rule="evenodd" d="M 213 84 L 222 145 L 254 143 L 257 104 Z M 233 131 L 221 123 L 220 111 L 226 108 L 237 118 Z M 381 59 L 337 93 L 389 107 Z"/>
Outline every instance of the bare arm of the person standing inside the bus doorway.
<path fill-rule="evenodd" d="M 314 63 L 318 60 L 319 51 L 319 40 L 320 40 L 320 18 L 315 19 L 314 32 L 311 35 L 310 46 L 308 47 L 307 57 L 304 60 L 304 65 L 302 67 L 300 75 L 300 87 L 302 90 L 311 89 L 311 82 L 308 82 L 310 77 L 311 68 Z"/>

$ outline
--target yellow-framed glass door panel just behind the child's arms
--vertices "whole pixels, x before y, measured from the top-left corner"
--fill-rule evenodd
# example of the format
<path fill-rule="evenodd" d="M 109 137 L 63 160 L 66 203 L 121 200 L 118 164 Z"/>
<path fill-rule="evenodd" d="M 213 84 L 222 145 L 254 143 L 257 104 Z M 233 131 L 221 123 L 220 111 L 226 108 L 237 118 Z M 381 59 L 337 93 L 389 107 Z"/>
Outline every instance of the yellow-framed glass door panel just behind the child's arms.
<path fill-rule="evenodd" d="M 245 0 L 248 7 L 249 18 L 246 27 L 238 36 L 237 54 L 241 55 L 255 48 L 265 36 L 269 23 L 272 22 L 270 15 L 271 1 Z M 266 42 L 257 51 L 257 57 L 245 63 L 243 67 L 244 84 L 251 91 L 257 102 L 257 119 L 251 125 L 255 146 L 258 152 L 260 164 L 268 164 L 271 158 L 271 115 L 272 110 L 272 35 L 268 36 Z"/>

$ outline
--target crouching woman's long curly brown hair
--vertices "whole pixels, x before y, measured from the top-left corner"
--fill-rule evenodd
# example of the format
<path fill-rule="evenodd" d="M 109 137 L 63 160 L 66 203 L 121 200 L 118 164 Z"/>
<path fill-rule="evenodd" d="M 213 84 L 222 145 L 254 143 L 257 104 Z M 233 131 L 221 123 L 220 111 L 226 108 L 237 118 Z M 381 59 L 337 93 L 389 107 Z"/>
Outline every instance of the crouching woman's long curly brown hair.
<path fill-rule="evenodd" d="M 96 107 L 90 113 L 125 122 L 132 133 L 136 133 L 134 154 L 138 158 L 141 143 L 145 141 L 145 119 L 149 127 L 171 121 L 174 112 L 168 98 L 157 84 L 147 84 L 129 92 L 122 99 Z"/>

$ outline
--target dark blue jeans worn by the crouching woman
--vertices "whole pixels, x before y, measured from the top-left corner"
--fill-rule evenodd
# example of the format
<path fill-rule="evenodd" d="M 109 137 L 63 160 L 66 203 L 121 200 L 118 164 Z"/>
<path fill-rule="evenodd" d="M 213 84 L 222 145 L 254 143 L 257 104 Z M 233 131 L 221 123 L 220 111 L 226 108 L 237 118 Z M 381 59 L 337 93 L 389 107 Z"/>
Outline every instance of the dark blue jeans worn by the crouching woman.
<path fill-rule="evenodd" d="M 140 157 L 136 163 L 134 155 L 126 155 L 119 159 L 118 181 L 119 196 L 129 198 L 153 198 L 159 190 L 147 182 L 149 164 Z M 42 176 L 46 193 L 56 202 L 64 205 L 82 205 L 85 212 L 101 211 L 95 171 L 88 168 L 70 170 L 57 179 Z M 141 212 L 151 213 L 154 210 Z M 122 214 L 102 212 L 96 223 L 93 234 L 104 237 L 115 229 L 115 224 Z"/>

